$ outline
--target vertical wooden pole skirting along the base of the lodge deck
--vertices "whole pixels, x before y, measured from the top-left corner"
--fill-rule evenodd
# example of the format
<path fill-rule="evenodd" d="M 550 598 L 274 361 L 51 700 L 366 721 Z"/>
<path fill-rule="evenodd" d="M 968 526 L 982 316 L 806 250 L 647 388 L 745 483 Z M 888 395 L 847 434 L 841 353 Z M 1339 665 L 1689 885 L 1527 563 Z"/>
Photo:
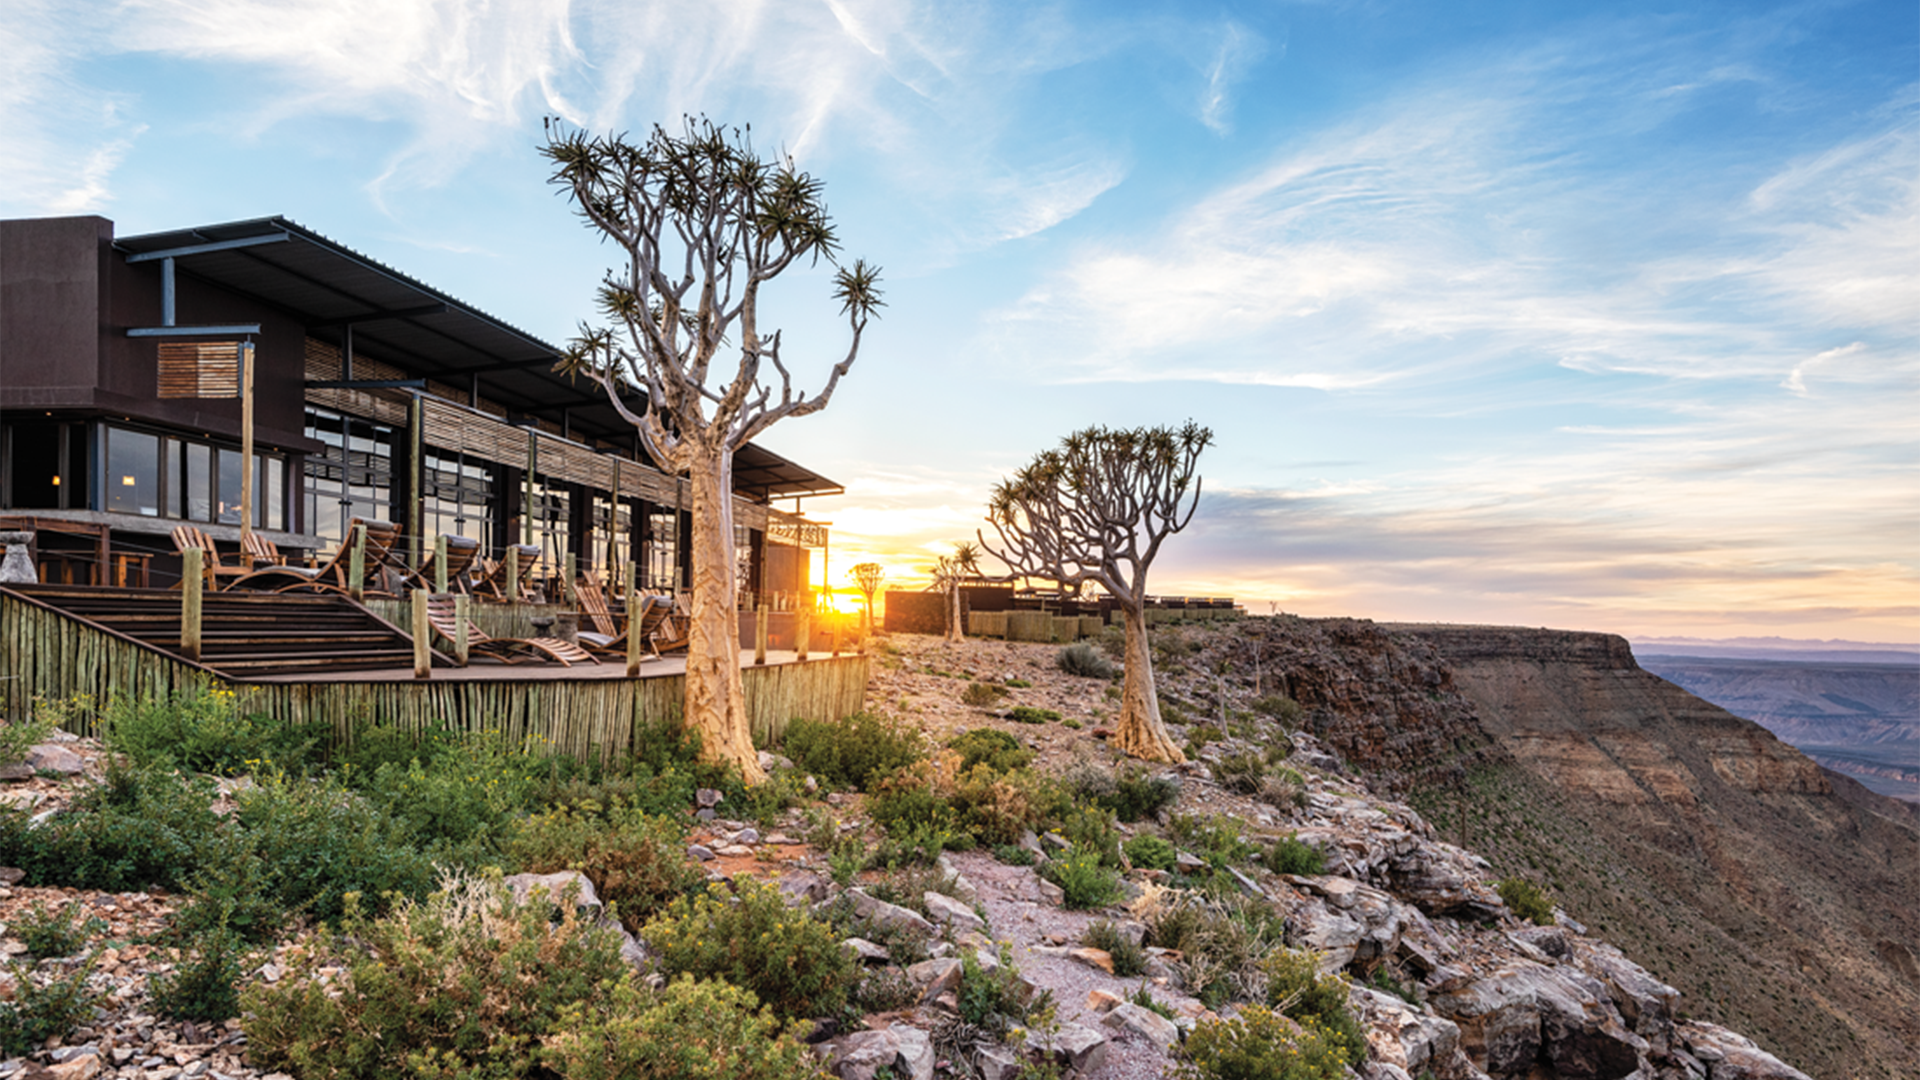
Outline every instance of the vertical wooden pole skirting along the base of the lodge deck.
<path fill-rule="evenodd" d="M 129 590 L 132 592 L 132 590 Z M 298 615 L 294 615 L 298 617 Z M 743 655 L 741 682 L 755 742 L 778 740 L 789 721 L 839 719 L 866 701 L 864 655 L 770 653 L 766 665 Z M 223 673 L 192 663 L 132 634 L 69 615 L 0 588 L 0 701 L 6 719 L 33 713 L 35 701 L 71 701 L 79 734 L 94 734 L 90 709 L 115 696 L 157 698 L 219 686 L 234 692 L 244 713 L 280 721 L 324 721 L 336 738 L 367 724 L 424 730 L 501 730 L 543 738 L 576 757 L 611 755 L 632 746 L 641 724 L 676 719 L 685 698 L 685 661 L 651 659 L 637 678 L 624 663 L 474 663 L 432 669 L 415 678 L 392 661 L 357 671 Z"/>

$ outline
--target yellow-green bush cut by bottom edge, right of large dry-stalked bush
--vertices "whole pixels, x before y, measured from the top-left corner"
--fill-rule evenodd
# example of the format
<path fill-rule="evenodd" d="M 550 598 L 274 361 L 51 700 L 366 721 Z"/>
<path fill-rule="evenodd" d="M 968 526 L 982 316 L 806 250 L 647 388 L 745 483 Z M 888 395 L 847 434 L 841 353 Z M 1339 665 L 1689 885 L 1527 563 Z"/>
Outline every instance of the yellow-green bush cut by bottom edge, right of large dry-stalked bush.
<path fill-rule="evenodd" d="M 680 976 L 649 992 L 622 976 L 568 1005 L 541 1055 L 566 1080 L 814 1080 L 812 1051 L 726 982 Z"/>

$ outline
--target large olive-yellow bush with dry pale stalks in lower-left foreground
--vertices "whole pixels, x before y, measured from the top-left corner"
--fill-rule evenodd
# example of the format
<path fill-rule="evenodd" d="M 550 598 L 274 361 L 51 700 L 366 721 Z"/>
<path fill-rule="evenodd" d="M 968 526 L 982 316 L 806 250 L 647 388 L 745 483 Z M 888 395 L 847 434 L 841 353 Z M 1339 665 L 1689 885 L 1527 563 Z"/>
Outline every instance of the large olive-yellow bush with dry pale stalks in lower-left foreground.
<path fill-rule="evenodd" d="M 444 878 L 384 919 L 349 897 L 338 934 L 240 994 L 250 1065 L 336 1080 L 530 1074 L 561 1015 L 630 972 L 611 930 L 555 899 L 515 903 L 497 876 Z M 344 974 L 323 982 L 323 967 Z"/>

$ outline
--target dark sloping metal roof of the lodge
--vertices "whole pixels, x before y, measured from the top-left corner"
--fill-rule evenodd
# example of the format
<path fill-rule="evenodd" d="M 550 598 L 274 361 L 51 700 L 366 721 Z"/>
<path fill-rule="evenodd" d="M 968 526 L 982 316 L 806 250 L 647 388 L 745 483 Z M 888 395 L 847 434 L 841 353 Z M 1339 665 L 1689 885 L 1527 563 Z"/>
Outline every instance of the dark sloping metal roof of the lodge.
<path fill-rule="evenodd" d="M 564 421 L 574 436 L 634 438 L 632 425 L 597 384 L 553 371 L 559 348 L 286 217 L 119 236 L 115 248 L 138 256 L 280 234 L 284 242 L 180 254 L 177 273 L 276 307 L 319 340 L 340 344 L 351 325 L 357 356 L 390 363 L 409 377 L 463 382 L 478 375 L 486 398 L 511 402 L 532 417 Z M 733 488 L 760 500 L 845 490 L 753 444 L 733 454 Z"/>

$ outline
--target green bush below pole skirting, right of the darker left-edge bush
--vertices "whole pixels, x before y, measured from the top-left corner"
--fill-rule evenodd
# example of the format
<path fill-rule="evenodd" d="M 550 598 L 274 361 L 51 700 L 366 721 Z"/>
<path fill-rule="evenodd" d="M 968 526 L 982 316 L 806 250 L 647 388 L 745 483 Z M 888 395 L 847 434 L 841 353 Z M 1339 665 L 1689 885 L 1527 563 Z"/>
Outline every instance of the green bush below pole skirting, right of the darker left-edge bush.
<path fill-rule="evenodd" d="M 413 847 L 409 830 L 330 778 L 261 776 L 238 803 L 234 817 L 265 865 L 267 894 L 288 911 L 326 920 L 346 911 L 349 892 L 382 909 L 384 894 L 432 890 L 432 859 Z"/>

